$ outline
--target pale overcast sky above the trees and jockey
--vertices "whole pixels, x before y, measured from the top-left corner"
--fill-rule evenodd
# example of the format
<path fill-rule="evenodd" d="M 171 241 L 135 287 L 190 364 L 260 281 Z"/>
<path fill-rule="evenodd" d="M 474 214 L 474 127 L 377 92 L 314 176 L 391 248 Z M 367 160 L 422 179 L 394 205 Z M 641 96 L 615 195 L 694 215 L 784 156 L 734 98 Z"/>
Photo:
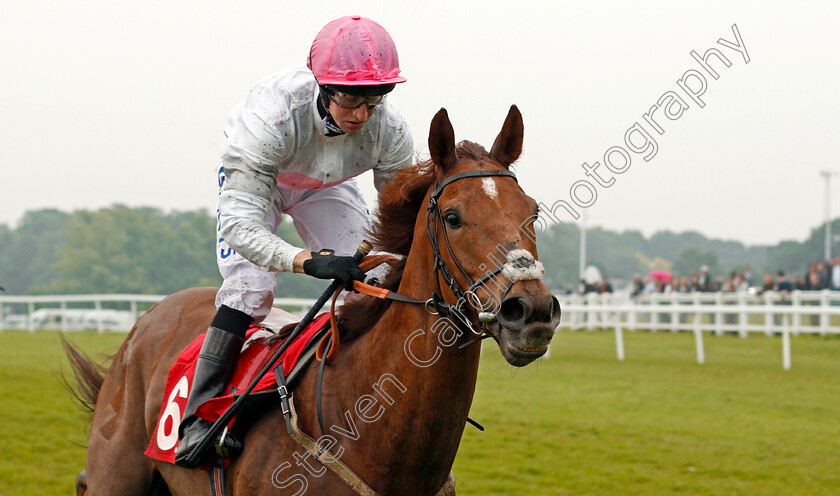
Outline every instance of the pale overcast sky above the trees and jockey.
<path fill-rule="evenodd" d="M 575 208 L 594 225 L 802 240 L 824 221 L 819 171 L 840 170 L 840 4 L 733 3 L 7 3 L 0 223 L 113 203 L 212 212 L 230 109 L 257 80 L 304 64 L 324 24 L 358 13 L 397 43 L 408 82 L 390 98 L 421 153 L 440 107 L 457 139 L 489 148 L 515 103 L 525 120 L 520 184 L 546 206 L 574 205 L 573 194 L 586 203 L 578 181 L 587 180 L 597 198 Z M 718 43 L 736 42 L 733 25 L 749 63 Z M 711 59 L 718 79 L 690 55 L 710 48 L 731 63 Z M 689 70 L 705 76 L 703 107 L 678 84 Z M 660 135 L 644 114 L 667 92 L 688 108 L 673 120 L 654 112 Z M 656 141 L 648 161 L 625 143 L 636 123 Z M 604 165 L 614 146 L 631 158 L 621 173 Z M 621 157 L 610 155 L 616 170 Z M 584 162 L 601 163 L 609 186 Z M 360 183 L 373 200 L 372 178 Z M 833 186 L 840 192 L 840 178 Z"/>

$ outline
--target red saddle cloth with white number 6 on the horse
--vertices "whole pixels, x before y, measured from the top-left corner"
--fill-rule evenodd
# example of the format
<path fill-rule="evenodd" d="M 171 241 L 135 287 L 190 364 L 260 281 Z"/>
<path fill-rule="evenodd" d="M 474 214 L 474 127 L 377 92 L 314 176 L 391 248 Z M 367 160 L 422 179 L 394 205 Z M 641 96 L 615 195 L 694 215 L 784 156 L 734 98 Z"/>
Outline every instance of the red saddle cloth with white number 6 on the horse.
<path fill-rule="evenodd" d="M 309 343 L 312 336 L 324 327 L 325 324 L 329 323 L 329 319 L 329 313 L 323 313 L 315 317 L 306 329 L 295 338 L 295 341 L 286 348 L 286 351 L 283 352 L 283 357 L 280 359 L 285 374 L 288 375 L 292 371 L 301 353 L 306 348 L 307 343 Z M 233 379 L 231 379 L 230 385 L 227 388 L 229 394 L 205 401 L 196 410 L 196 415 L 210 421 L 218 419 L 233 404 L 236 393 L 248 387 L 263 365 L 265 365 L 266 361 L 271 357 L 274 352 L 273 350 L 282 344 L 282 341 L 279 341 L 274 346 L 269 347 L 264 341 L 270 336 L 258 337 L 255 340 L 251 340 L 254 333 L 261 330 L 263 329 L 260 327 L 251 326 L 245 333 L 246 347 L 239 357 Z M 178 359 L 175 360 L 175 363 L 169 369 L 169 375 L 166 377 L 166 388 L 163 391 L 163 401 L 160 405 L 160 413 L 158 414 L 158 422 L 152 433 L 149 446 L 144 452 L 150 458 L 175 463 L 175 453 L 178 446 L 178 425 L 185 416 L 184 408 L 187 405 L 192 379 L 195 375 L 195 362 L 198 358 L 199 351 L 201 351 L 201 345 L 204 343 L 204 336 L 202 334 L 195 338 L 195 341 L 190 343 L 178 355 Z M 277 381 L 274 378 L 274 374 L 269 372 L 257 383 L 256 387 L 254 387 L 254 392 L 274 389 L 276 387 Z M 230 421 L 228 427 L 233 425 L 234 420 L 235 418 Z"/>

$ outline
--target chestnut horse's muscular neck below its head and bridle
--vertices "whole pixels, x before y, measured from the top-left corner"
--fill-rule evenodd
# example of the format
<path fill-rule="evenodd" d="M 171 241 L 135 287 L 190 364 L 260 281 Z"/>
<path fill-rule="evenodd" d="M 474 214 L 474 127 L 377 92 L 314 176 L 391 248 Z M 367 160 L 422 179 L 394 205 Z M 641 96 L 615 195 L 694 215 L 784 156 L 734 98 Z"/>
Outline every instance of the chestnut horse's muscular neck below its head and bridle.
<path fill-rule="evenodd" d="M 400 292 L 426 299 L 433 292 L 431 275 L 411 262 L 403 281 L 412 282 L 402 284 Z M 448 474 L 472 403 L 480 345 L 459 349 L 470 336 L 453 339 L 457 332 L 454 322 L 422 305 L 392 303 L 352 346 L 353 363 L 365 364 L 357 369 L 366 376 L 360 377 L 361 386 L 377 393 L 387 409 L 375 425 L 366 426 L 376 447 L 373 462 L 404 471 L 406 481 L 419 478 L 414 484 L 428 482 L 435 477 L 431 474 Z"/>

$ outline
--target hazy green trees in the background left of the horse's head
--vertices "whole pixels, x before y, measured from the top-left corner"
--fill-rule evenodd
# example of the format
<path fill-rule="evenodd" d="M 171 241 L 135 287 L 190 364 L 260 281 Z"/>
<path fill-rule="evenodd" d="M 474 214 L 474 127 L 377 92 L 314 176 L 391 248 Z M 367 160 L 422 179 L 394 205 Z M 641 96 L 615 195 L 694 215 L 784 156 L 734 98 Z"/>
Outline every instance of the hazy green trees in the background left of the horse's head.
<path fill-rule="evenodd" d="M 291 222 L 277 234 L 303 246 Z M 26 212 L 15 229 L 0 224 L 0 286 L 5 294 L 169 294 L 219 286 L 216 221 L 205 210 L 109 208 Z M 318 296 L 323 281 L 280 274 L 277 296 Z"/>

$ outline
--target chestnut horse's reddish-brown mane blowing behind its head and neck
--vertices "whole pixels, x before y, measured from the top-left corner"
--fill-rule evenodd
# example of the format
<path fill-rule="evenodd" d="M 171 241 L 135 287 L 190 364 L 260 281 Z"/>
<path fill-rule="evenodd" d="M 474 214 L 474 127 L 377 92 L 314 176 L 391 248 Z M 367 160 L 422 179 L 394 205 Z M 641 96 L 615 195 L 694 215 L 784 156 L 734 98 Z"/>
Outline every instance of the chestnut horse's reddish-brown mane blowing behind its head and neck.
<path fill-rule="evenodd" d="M 459 160 L 492 160 L 483 146 L 462 141 L 455 148 Z M 379 193 L 379 212 L 368 236 L 376 250 L 403 257 L 414 242 L 414 225 L 423 206 L 426 193 L 435 182 L 435 164 L 431 159 L 403 169 L 388 181 Z M 392 267 L 382 287 L 396 291 L 402 281 L 405 259 Z M 338 318 L 341 337 L 345 341 L 364 334 L 385 313 L 391 300 L 365 297 L 344 305 Z"/>

